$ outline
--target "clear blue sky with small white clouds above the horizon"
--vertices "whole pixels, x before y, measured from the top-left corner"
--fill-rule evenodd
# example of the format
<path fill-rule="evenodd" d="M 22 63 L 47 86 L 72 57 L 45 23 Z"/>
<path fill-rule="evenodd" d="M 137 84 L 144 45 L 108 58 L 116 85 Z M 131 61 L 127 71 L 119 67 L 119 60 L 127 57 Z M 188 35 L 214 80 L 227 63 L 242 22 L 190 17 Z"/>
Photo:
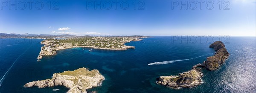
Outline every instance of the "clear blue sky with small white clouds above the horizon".
<path fill-rule="evenodd" d="M 15 4 L 15 0 L 1 0 L 0 32 L 54 35 L 256 35 L 255 0 L 221 1 L 221 9 L 216 0 L 208 2 L 208 7 L 206 3 L 209 0 L 204 1 L 202 9 L 198 1 L 191 0 L 126 0 L 119 1 L 116 9 L 113 0 L 102 0 L 102 5 L 96 6 L 96 9 L 99 0 L 51 1 L 50 9 L 49 1 L 38 1 L 34 1 L 29 9 L 27 1 L 17 0 L 16 5 L 10 6 Z M 186 2 L 188 9 L 186 6 L 180 9 L 180 5 Z M 197 7 L 193 9 L 195 3 Z M 211 8 L 212 3 L 214 7 Z M 44 6 L 42 9 L 41 4 Z M 53 9 L 56 4 L 58 6 Z M 24 5 L 26 7 L 22 10 Z M 111 9 L 108 9 L 109 5 Z M 125 9 L 126 5 L 128 9 Z M 225 6 L 228 10 L 224 10 Z"/>

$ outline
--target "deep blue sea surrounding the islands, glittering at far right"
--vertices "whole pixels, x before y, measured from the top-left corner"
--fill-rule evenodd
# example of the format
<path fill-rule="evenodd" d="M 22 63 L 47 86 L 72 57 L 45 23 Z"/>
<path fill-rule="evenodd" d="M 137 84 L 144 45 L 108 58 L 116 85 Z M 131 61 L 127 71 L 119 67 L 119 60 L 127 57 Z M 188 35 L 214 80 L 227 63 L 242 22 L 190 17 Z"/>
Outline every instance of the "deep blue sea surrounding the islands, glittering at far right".
<path fill-rule="evenodd" d="M 203 70 L 203 84 L 179 90 L 157 85 L 156 78 L 177 75 L 202 63 L 214 54 L 215 51 L 208 47 L 213 41 L 206 42 L 203 38 L 202 42 L 198 40 L 192 44 L 188 41 L 186 44 L 186 41 L 172 42 L 172 37 L 144 38 L 143 41 L 126 44 L 136 49 L 93 49 L 93 52 L 88 52 L 90 48 L 64 49 L 57 51 L 57 55 L 44 57 L 40 62 L 36 58 L 43 46 L 41 39 L 0 41 L 0 79 L 3 78 L 0 93 L 64 93 L 68 89 L 63 86 L 39 89 L 24 88 L 23 85 L 80 67 L 97 69 L 105 76 L 102 86 L 87 90 L 98 93 L 256 93 L 255 37 L 230 37 L 224 42 L 230 52 L 227 61 L 218 70 Z M 181 59 L 190 60 L 175 61 Z M 161 61 L 175 62 L 148 66 Z M 58 88 L 60 90 L 52 91 Z"/>

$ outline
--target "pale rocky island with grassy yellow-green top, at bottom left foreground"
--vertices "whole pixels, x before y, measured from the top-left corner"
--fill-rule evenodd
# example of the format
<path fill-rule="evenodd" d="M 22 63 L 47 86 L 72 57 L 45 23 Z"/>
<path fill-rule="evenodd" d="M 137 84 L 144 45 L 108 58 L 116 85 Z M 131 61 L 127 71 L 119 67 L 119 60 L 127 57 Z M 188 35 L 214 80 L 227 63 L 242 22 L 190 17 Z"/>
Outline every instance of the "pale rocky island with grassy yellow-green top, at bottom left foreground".
<path fill-rule="evenodd" d="M 70 89 L 67 93 L 87 93 L 86 89 L 97 87 L 104 79 L 98 70 L 89 71 L 83 67 L 74 71 L 54 73 L 50 79 L 32 81 L 24 87 L 44 88 L 62 85 Z"/>

